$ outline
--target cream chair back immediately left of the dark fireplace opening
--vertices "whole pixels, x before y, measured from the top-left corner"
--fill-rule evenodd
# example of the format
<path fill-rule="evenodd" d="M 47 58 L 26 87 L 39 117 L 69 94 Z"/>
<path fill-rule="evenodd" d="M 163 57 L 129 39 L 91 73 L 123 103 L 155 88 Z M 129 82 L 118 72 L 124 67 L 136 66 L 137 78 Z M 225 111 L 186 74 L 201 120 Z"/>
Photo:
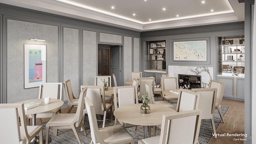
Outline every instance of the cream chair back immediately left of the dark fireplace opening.
<path fill-rule="evenodd" d="M 178 77 L 162 77 L 161 83 L 162 83 L 161 85 L 162 91 L 179 88 Z"/>

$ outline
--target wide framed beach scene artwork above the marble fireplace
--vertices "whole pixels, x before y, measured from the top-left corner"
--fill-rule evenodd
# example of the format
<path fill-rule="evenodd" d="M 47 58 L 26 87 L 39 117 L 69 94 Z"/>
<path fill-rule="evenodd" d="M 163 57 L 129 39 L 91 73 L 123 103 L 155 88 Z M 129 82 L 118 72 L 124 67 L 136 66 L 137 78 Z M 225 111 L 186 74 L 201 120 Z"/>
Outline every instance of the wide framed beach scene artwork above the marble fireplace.
<path fill-rule="evenodd" d="M 207 61 L 207 41 L 173 42 L 174 61 Z"/>

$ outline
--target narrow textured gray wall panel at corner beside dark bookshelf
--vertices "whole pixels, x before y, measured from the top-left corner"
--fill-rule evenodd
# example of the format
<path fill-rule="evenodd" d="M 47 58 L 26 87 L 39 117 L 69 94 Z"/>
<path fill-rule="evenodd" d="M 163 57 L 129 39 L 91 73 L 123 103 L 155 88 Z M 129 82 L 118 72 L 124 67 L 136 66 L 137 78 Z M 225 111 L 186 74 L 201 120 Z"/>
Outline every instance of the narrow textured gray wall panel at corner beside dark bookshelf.
<path fill-rule="evenodd" d="M 140 38 L 133 38 L 133 71 L 140 71 Z"/>

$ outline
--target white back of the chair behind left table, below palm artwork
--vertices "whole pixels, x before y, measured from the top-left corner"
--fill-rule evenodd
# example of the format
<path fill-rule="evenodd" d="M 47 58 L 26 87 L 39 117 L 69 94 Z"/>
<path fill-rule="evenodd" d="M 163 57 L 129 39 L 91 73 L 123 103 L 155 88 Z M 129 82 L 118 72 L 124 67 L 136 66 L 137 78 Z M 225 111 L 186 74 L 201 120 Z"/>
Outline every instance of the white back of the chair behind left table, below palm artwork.
<path fill-rule="evenodd" d="M 62 82 L 40 83 L 38 98 L 46 97 L 62 100 Z"/>

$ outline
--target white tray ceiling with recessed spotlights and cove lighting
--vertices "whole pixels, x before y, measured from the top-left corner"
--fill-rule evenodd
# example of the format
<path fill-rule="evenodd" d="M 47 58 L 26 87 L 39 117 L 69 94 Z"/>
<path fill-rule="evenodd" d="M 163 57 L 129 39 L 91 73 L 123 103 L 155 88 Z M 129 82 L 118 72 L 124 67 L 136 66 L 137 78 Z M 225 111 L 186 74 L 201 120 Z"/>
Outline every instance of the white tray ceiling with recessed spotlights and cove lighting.
<path fill-rule="evenodd" d="M 202 0 L 0 0 L 0 3 L 140 32 L 244 21 L 244 3 L 238 0 L 205 0 L 204 4 Z"/>

